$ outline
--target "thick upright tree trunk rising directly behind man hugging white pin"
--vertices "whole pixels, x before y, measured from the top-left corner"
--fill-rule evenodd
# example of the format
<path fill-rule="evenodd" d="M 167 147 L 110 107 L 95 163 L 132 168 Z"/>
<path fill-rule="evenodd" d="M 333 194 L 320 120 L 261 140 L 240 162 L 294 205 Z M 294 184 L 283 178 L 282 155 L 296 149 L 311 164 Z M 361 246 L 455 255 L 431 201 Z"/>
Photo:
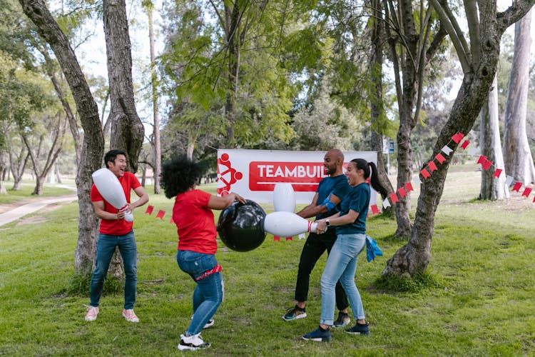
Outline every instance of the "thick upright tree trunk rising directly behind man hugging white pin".
<path fill-rule="evenodd" d="M 129 169 L 136 173 L 145 130 L 136 111 L 133 95 L 131 43 L 125 1 L 104 0 L 103 21 L 111 99 L 110 147 L 126 151 Z"/>

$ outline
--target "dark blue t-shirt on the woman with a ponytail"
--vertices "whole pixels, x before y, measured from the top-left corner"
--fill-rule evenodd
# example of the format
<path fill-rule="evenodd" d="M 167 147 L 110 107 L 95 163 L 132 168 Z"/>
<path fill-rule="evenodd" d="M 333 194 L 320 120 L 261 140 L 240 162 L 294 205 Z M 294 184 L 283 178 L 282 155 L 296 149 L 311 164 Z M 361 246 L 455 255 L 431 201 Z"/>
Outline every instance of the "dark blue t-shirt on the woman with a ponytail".
<path fill-rule="evenodd" d="M 368 206 L 370 206 L 370 186 L 363 182 L 355 187 L 350 188 L 350 193 L 340 203 L 340 216 L 345 216 L 350 209 L 359 213 L 355 222 L 336 226 L 337 234 L 365 234 L 366 233 L 366 216 L 368 215 Z"/>

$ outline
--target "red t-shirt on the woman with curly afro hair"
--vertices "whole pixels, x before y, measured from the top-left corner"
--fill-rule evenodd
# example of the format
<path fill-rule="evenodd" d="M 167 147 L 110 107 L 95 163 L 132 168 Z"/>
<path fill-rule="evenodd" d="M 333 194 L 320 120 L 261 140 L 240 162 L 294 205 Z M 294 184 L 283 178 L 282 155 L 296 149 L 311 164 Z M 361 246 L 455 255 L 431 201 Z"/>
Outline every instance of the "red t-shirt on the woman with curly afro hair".
<path fill-rule="evenodd" d="M 210 193 L 191 190 L 179 193 L 173 206 L 173 221 L 178 232 L 178 250 L 215 254 L 218 243 L 213 212 L 208 208 Z"/>

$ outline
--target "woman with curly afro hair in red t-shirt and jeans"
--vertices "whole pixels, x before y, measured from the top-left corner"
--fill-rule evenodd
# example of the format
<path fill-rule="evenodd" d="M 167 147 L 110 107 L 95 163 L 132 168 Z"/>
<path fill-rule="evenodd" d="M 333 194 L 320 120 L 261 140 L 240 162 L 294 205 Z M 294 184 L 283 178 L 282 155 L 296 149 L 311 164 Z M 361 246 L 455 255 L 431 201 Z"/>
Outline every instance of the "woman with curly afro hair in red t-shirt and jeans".
<path fill-rule="evenodd" d="M 210 347 L 200 336 L 203 328 L 213 325 L 212 316 L 223 301 L 221 266 L 215 260 L 218 244 L 213 209 L 223 210 L 234 201 L 245 199 L 229 193 L 219 197 L 195 188 L 204 174 L 203 166 L 184 157 L 175 157 L 162 166 L 162 183 L 167 198 L 175 198 L 173 221 L 178 232 L 176 261 L 180 270 L 197 283 L 193 291 L 193 316 L 178 349 Z"/>

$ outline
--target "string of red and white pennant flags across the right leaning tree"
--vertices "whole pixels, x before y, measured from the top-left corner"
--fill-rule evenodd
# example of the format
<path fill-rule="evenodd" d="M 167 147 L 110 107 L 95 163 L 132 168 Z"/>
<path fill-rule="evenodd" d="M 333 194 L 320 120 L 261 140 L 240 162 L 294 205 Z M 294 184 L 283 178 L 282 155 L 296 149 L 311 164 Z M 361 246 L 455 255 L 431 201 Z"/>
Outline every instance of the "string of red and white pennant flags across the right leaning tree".
<path fill-rule="evenodd" d="M 437 165 L 444 164 L 444 161 L 446 161 L 446 158 L 444 157 L 444 155 L 449 156 L 449 154 L 452 154 L 453 149 L 448 146 L 452 141 L 454 141 L 455 144 L 459 144 L 462 141 L 462 144 L 460 145 L 461 148 L 463 150 L 467 149 L 467 147 L 470 144 L 470 141 L 468 141 L 467 139 L 464 139 L 464 140 L 463 139 L 464 139 L 464 134 L 459 133 L 459 132 L 457 132 L 457 134 L 454 134 L 454 136 L 452 136 L 448 144 L 444 145 L 444 147 L 441 149 L 439 154 L 435 155 L 434 159 L 429 161 L 424 167 L 424 169 L 420 170 L 419 174 L 422 175 L 424 180 L 427 180 L 427 178 L 431 177 L 434 171 L 438 170 Z M 472 148 L 469 150 L 469 155 L 477 156 L 476 152 L 477 152 L 477 149 Z M 496 165 L 494 165 L 494 163 L 484 155 L 479 156 L 479 159 L 477 159 L 477 164 L 481 164 L 481 169 L 484 169 L 485 171 L 489 171 L 491 168 L 494 169 L 494 174 L 492 174 L 492 177 L 499 178 L 501 174 L 504 172 L 504 169 L 497 168 Z M 414 181 L 414 183 L 417 183 L 417 184 L 422 183 L 419 176 L 414 176 L 414 178 L 412 178 L 412 181 Z M 508 187 L 511 187 L 513 181 L 514 181 L 514 178 L 512 176 L 506 175 L 505 183 Z M 515 182 L 514 185 L 512 186 L 513 188 L 511 191 L 516 191 L 520 193 L 523 183 Z M 412 187 L 412 183 L 410 182 L 404 183 L 404 185 L 397 188 L 396 192 L 390 193 L 387 198 L 384 198 L 384 200 L 382 201 L 382 208 L 384 209 L 384 208 L 390 207 L 392 206 L 392 204 L 399 202 L 399 198 L 404 198 L 405 196 L 407 196 L 407 193 L 413 190 L 414 188 Z M 532 188 L 524 186 L 524 191 L 522 192 L 521 196 L 522 197 L 525 196 L 526 198 L 528 198 L 531 191 L 532 191 Z M 390 202 L 392 202 L 392 204 Z M 535 203 L 535 196 L 534 196 L 533 202 Z M 372 209 L 372 214 L 380 213 L 379 207 L 377 206 L 377 204 L 372 205 L 370 208 Z"/>

